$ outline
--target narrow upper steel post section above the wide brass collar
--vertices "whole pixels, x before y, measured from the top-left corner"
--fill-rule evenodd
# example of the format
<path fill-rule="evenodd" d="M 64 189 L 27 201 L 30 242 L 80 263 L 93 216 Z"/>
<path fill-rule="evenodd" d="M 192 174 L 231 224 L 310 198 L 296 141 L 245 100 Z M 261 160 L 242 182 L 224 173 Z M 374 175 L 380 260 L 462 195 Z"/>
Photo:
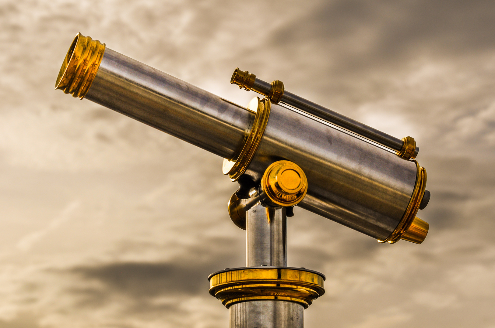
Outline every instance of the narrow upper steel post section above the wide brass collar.
<path fill-rule="evenodd" d="M 246 266 L 287 266 L 284 207 L 252 206 L 246 214 Z"/>

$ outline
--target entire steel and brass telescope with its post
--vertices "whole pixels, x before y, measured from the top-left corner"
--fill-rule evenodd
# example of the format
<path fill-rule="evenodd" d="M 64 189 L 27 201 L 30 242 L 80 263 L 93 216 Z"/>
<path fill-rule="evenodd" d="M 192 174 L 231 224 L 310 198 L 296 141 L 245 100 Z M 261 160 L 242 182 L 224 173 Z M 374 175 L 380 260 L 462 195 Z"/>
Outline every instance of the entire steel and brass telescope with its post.
<path fill-rule="evenodd" d="M 294 206 L 380 243 L 421 244 L 416 217 L 430 199 L 410 136 L 395 138 L 236 69 L 231 83 L 253 90 L 243 107 L 78 34 L 55 88 L 148 124 L 224 159 L 239 183 L 228 202 L 246 230 L 246 267 L 209 276 L 230 327 L 302 328 L 303 309 L 325 276 L 287 267 L 287 217 Z"/>

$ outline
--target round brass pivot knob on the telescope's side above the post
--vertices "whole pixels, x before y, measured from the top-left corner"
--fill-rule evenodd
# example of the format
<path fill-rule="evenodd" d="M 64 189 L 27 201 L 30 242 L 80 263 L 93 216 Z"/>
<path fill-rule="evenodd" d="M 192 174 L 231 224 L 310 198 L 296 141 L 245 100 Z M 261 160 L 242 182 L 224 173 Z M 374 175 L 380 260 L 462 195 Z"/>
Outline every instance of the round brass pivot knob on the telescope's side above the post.
<path fill-rule="evenodd" d="M 297 205 L 306 196 L 308 181 L 304 171 L 290 161 L 277 161 L 265 170 L 261 188 L 273 203 Z"/>

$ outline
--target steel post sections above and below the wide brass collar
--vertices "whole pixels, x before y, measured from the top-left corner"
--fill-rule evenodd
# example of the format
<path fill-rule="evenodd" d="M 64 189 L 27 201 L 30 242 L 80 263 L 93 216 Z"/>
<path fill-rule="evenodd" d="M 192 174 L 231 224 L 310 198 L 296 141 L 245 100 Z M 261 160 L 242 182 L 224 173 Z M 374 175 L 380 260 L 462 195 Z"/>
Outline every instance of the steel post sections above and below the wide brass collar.
<path fill-rule="evenodd" d="M 246 266 L 287 266 L 285 207 L 258 203 L 247 211 Z M 304 307 L 282 300 L 252 300 L 229 308 L 230 328 L 302 328 Z"/>

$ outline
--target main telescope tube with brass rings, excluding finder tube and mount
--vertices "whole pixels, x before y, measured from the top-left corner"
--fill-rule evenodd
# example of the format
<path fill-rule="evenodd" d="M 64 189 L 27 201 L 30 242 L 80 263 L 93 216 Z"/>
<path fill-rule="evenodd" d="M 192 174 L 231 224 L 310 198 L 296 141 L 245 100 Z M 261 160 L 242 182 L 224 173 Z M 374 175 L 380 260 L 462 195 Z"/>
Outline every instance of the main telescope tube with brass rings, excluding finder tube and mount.
<path fill-rule="evenodd" d="M 425 194 L 424 168 L 312 115 L 269 98 L 256 97 L 244 108 L 80 34 L 56 88 L 229 160 L 224 173 L 232 180 L 244 174 L 259 183 L 270 164 L 291 161 L 307 177 L 299 206 L 380 242 L 420 244 L 426 237 L 428 224 L 415 217 Z"/>

